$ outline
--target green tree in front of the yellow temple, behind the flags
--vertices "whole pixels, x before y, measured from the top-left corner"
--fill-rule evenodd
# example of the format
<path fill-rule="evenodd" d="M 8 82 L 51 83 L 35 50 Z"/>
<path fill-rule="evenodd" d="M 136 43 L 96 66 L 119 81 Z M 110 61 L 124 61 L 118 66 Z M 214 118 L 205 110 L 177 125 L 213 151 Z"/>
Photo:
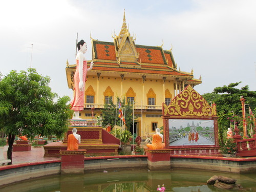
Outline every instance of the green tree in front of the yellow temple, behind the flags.
<path fill-rule="evenodd" d="M 117 125 L 120 125 L 120 118 L 119 115 L 119 109 L 118 109 L 118 103 L 121 102 L 122 109 L 123 109 L 123 115 L 124 115 L 124 109 L 125 109 L 125 127 L 126 129 L 130 129 L 130 126 L 133 125 L 133 104 L 131 103 L 125 103 L 125 99 L 121 99 L 117 97 L 117 104 L 114 104 L 113 101 L 110 101 L 110 103 L 105 103 L 104 108 L 101 110 L 102 112 L 102 126 L 105 127 L 108 123 L 112 127 L 115 126 L 115 123 Z M 135 119 L 136 121 L 136 119 Z"/>

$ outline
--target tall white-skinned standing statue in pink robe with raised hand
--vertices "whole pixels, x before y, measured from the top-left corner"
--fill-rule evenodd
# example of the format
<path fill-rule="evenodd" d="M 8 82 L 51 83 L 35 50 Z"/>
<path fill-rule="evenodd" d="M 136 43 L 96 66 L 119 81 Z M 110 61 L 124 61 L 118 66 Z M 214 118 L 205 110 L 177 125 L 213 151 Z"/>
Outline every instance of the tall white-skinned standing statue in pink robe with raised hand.
<path fill-rule="evenodd" d="M 74 98 L 72 100 L 71 109 L 74 111 L 73 119 L 79 118 L 79 111 L 83 110 L 84 103 L 84 87 L 86 86 L 86 75 L 88 71 L 93 69 L 93 61 L 90 68 L 87 69 L 87 60 L 83 56 L 87 52 L 87 44 L 80 40 L 77 44 L 78 53 L 76 55 L 76 72 L 74 75 Z"/>

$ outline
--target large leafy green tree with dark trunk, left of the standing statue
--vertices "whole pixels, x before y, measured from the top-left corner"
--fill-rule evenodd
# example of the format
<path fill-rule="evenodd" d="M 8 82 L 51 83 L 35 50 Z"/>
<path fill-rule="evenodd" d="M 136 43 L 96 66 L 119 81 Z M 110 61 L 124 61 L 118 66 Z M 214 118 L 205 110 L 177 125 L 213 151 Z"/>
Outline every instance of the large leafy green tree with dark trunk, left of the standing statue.
<path fill-rule="evenodd" d="M 11 71 L 0 81 L 0 125 L 8 135 L 8 159 L 12 159 L 15 136 L 33 139 L 36 135 L 61 137 L 68 129 L 72 116 L 70 98 L 57 98 L 49 87 L 50 77 L 35 69 Z M 11 163 L 9 163 L 11 164 Z"/>

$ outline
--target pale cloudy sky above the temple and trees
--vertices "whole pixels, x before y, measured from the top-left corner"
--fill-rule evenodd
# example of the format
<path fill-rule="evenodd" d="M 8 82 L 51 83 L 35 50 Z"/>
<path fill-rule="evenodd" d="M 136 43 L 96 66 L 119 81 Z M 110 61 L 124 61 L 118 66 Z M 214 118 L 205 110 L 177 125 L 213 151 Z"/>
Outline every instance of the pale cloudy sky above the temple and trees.
<path fill-rule="evenodd" d="M 173 48 L 177 69 L 194 71 L 199 94 L 242 81 L 256 91 L 256 1 L 254 0 L 12 0 L 0 2 L 0 72 L 36 68 L 50 76 L 60 97 L 68 89 L 67 59 L 75 63 L 76 35 L 113 42 L 125 9 L 137 45 Z M 33 46 L 32 46 L 33 44 Z"/>

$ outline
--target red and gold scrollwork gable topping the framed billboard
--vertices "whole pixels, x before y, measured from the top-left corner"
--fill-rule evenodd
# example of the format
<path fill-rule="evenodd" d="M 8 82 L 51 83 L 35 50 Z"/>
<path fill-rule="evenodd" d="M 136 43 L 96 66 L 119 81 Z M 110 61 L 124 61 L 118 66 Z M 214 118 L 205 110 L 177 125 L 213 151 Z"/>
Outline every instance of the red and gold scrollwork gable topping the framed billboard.
<path fill-rule="evenodd" d="M 163 115 L 172 117 L 215 117 L 216 104 L 210 106 L 208 102 L 188 85 L 167 106 L 163 103 Z"/>

